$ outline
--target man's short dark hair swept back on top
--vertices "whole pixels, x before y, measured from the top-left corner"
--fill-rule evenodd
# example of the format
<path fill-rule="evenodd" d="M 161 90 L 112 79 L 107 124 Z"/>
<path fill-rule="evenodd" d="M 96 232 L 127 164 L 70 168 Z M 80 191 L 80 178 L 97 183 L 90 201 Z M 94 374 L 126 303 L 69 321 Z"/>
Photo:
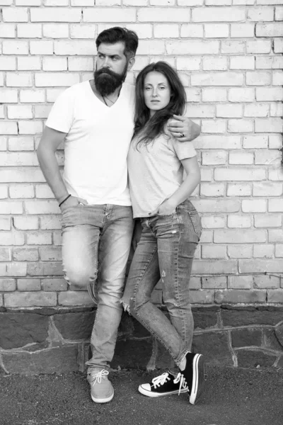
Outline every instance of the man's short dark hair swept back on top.
<path fill-rule="evenodd" d="M 96 48 L 104 42 L 105 44 L 115 44 L 116 42 L 124 42 L 125 50 L 124 55 L 129 60 L 137 52 L 139 45 L 139 38 L 134 31 L 127 30 L 127 28 L 113 27 L 108 30 L 102 31 L 96 38 Z"/>

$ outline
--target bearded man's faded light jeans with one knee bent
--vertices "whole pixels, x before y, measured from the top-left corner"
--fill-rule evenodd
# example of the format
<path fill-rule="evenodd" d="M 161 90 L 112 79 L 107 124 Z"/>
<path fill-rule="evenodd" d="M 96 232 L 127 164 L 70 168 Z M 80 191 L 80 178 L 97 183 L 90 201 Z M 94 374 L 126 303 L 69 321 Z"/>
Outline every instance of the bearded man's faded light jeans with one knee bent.
<path fill-rule="evenodd" d="M 133 227 L 128 206 L 76 205 L 62 210 L 65 278 L 79 288 L 91 285 L 98 304 L 88 373 L 109 368 L 114 355 Z"/>

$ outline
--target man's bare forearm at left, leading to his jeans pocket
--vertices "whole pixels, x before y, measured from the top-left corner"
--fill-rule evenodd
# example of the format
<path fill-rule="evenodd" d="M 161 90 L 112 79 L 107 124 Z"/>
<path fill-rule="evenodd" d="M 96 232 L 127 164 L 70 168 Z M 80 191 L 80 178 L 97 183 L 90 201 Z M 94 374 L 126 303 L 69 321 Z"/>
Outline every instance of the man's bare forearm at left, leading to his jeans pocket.
<path fill-rule="evenodd" d="M 60 174 L 55 152 L 53 152 L 52 149 L 46 149 L 45 147 L 39 146 L 37 149 L 37 158 L 42 173 L 54 193 L 55 198 L 59 203 L 62 202 L 62 200 L 68 196 L 68 191 Z"/>

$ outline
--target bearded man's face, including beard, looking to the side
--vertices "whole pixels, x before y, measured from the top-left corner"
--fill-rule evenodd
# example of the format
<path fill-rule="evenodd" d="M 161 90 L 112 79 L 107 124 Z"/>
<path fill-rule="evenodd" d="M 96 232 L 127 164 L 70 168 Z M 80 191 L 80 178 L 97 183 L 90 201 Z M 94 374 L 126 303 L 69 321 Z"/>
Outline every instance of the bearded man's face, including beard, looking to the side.
<path fill-rule="evenodd" d="M 94 81 L 102 96 L 109 96 L 125 81 L 127 71 L 132 68 L 134 58 L 129 61 L 124 55 L 123 42 L 101 43 L 98 47 Z"/>

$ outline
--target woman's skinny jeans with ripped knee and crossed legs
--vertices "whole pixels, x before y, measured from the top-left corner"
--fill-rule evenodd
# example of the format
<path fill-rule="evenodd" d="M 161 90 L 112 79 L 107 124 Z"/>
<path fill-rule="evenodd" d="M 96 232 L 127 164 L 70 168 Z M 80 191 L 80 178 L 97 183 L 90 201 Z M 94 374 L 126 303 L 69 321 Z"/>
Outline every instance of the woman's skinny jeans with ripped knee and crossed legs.
<path fill-rule="evenodd" d="M 189 283 L 201 234 L 200 217 L 192 203 L 185 200 L 173 214 L 142 218 L 141 225 L 141 239 L 121 302 L 179 365 L 192 346 Z M 160 278 L 170 320 L 151 302 L 151 292 Z"/>

